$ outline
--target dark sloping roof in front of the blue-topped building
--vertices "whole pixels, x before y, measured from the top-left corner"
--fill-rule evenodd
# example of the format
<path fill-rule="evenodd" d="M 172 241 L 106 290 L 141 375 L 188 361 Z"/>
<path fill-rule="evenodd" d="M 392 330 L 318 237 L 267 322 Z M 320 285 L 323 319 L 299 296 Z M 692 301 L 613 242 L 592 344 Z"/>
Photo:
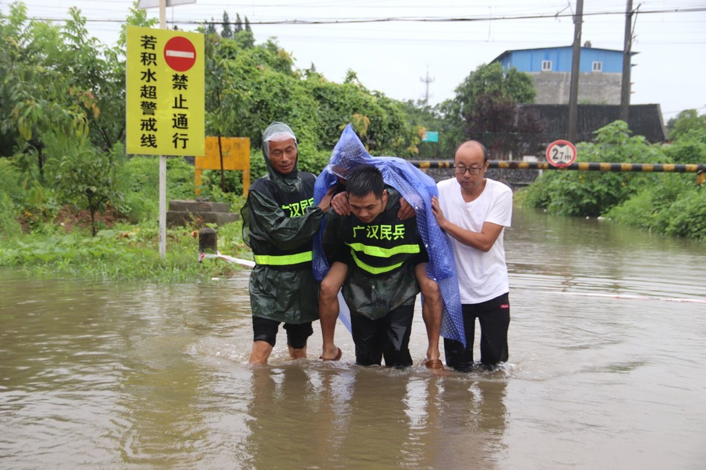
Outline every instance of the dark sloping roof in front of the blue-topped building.
<path fill-rule="evenodd" d="M 534 110 L 544 121 L 546 142 L 566 139 L 568 133 L 568 104 L 520 104 L 522 110 Z M 620 105 L 579 104 L 577 112 L 577 142 L 593 140 L 600 128 L 620 119 Z M 667 140 L 659 104 L 632 104 L 628 109 L 628 128 L 633 135 L 642 135 L 648 142 Z"/>

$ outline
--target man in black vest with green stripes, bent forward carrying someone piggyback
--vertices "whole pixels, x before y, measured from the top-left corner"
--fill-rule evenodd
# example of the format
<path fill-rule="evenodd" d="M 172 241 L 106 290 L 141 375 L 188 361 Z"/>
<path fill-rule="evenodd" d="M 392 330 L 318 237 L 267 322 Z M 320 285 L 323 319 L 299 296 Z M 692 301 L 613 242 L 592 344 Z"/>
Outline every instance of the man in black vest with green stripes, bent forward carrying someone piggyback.
<path fill-rule="evenodd" d="M 351 309 L 356 362 L 397 368 L 412 365 L 409 335 L 419 285 L 414 266 L 428 255 L 417 223 L 401 221 L 400 194 L 374 166 L 347 174 L 352 215 L 328 216 L 323 251 L 329 262 L 347 264 L 343 297 Z"/>

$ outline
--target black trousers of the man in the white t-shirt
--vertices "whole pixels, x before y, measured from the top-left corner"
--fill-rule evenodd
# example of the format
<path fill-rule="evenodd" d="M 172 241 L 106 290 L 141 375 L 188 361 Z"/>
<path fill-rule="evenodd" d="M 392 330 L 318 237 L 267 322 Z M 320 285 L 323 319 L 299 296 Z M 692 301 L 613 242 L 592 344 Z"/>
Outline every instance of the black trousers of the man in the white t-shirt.
<path fill-rule="evenodd" d="M 508 326 L 510 326 L 510 300 L 505 293 L 480 304 L 462 304 L 463 328 L 466 347 L 455 340 L 444 338 L 446 364 L 457 371 L 473 369 L 473 340 L 476 319 L 481 326 L 481 364 L 492 369 L 498 362 L 508 360 Z"/>

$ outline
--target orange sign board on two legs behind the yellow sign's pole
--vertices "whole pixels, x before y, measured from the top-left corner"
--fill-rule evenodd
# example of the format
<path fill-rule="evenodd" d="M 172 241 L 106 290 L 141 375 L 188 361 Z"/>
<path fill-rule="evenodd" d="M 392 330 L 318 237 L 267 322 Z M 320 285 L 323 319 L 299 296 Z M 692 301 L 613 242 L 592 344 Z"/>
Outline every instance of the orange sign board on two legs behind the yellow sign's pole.
<path fill-rule="evenodd" d="M 196 156 L 194 159 L 195 172 L 193 182 L 196 185 L 196 194 L 201 194 L 202 170 L 220 170 L 223 168 L 224 170 L 240 170 L 243 172 L 243 195 L 247 195 L 250 189 L 249 137 L 210 136 L 206 137 L 204 148 L 205 155 Z"/>

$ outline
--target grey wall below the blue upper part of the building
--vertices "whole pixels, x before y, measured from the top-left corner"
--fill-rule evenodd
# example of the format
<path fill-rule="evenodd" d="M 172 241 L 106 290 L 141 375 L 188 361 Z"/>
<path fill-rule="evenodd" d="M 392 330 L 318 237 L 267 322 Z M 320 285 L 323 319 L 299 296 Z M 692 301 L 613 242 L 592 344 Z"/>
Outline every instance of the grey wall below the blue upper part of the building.
<path fill-rule="evenodd" d="M 568 104 L 571 74 L 530 73 L 537 88 L 536 104 Z M 580 104 L 620 104 L 621 73 L 581 73 L 578 79 Z"/>

